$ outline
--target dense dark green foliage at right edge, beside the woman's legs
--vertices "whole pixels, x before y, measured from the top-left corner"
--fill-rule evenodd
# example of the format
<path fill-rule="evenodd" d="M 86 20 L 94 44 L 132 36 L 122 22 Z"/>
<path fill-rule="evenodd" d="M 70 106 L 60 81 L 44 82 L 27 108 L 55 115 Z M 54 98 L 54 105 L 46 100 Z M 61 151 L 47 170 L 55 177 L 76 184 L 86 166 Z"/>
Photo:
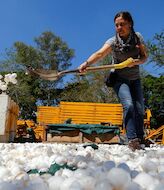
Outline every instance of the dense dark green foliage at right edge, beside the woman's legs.
<path fill-rule="evenodd" d="M 164 76 L 143 78 L 143 87 L 145 105 L 152 111 L 151 126 L 160 127 L 164 124 Z"/>

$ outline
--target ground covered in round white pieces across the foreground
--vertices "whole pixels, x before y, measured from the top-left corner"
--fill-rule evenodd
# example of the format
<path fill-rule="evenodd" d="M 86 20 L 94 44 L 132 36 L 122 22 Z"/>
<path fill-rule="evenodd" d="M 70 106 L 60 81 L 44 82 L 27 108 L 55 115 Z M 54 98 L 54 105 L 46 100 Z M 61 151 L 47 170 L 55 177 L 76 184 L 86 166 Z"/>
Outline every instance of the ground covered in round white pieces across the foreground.
<path fill-rule="evenodd" d="M 0 144 L 0 190 L 164 190 L 164 146 L 83 145 Z"/>

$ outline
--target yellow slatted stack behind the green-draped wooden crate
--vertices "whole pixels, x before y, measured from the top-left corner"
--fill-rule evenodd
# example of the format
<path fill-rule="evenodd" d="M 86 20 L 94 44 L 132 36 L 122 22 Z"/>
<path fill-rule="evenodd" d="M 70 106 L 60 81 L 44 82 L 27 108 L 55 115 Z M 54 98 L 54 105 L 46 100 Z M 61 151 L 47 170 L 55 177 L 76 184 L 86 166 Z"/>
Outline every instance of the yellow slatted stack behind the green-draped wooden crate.
<path fill-rule="evenodd" d="M 45 124 L 64 123 L 71 119 L 73 124 L 111 123 L 122 126 L 121 104 L 61 102 L 58 107 L 39 106 L 37 122 Z"/>

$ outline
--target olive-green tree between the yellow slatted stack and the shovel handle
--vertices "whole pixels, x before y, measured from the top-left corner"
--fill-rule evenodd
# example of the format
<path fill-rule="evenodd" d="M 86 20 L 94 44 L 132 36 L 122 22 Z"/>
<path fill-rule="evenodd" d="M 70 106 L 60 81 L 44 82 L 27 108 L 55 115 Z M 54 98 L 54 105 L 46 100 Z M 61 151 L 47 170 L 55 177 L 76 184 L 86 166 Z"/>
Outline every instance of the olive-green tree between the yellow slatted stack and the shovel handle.
<path fill-rule="evenodd" d="M 109 64 L 111 57 L 106 57 L 99 65 Z M 104 81 L 109 71 L 88 72 L 77 75 L 68 83 L 60 95 L 62 101 L 116 103 L 117 97 L 112 88 L 108 88 Z"/>

